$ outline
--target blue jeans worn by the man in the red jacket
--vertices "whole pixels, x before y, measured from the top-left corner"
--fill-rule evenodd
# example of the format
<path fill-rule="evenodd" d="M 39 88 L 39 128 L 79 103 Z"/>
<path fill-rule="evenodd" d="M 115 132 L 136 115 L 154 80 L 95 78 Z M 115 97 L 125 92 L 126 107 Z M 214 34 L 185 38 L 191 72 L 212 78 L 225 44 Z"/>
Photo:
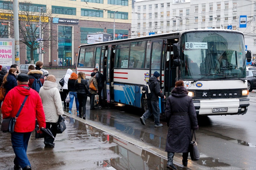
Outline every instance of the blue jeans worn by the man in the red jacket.
<path fill-rule="evenodd" d="M 30 135 L 31 135 L 31 132 L 11 133 L 13 151 L 16 156 L 13 162 L 15 165 L 20 165 L 22 169 L 27 165 L 31 167 L 27 157 L 27 148 L 28 148 L 28 141 L 29 141 Z"/>

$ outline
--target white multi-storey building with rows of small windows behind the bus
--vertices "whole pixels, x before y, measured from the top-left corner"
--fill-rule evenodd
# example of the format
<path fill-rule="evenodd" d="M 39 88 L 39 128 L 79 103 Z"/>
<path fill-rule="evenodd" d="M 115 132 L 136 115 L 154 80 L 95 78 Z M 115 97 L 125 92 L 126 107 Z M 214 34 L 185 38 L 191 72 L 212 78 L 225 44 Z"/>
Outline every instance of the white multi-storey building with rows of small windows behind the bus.
<path fill-rule="evenodd" d="M 256 61 L 256 1 L 157 0 L 135 1 L 132 8 L 132 37 L 176 30 L 220 28 L 244 33 L 245 45 Z M 240 16 L 246 27 L 240 28 Z"/>

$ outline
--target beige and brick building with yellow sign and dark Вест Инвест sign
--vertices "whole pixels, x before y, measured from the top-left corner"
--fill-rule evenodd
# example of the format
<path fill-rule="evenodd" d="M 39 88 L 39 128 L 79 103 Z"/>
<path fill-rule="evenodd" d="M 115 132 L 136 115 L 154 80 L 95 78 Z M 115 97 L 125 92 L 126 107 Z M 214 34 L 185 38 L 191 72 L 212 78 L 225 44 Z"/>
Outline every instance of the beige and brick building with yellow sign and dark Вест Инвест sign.
<path fill-rule="evenodd" d="M 28 8 L 29 6 L 29 8 Z M 0 37 L 13 38 L 12 2 L 0 1 Z M 42 10 L 41 10 L 42 8 Z M 79 46 L 87 43 L 87 35 L 105 32 L 112 35 L 115 22 L 115 39 L 128 38 L 131 35 L 131 1 L 128 0 L 46 0 L 30 2 L 19 1 L 19 18 L 24 18 L 24 10 L 33 11 L 33 17 L 39 18 L 49 13 L 45 31 L 42 31 L 42 61 L 44 65 L 76 65 Z M 25 20 L 25 19 L 23 19 Z M 36 19 L 38 21 L 38 19 Z M 35 22 L 34 27 L 38 27 Z M 44 24 L 43 24 L 44 25 Z M 26 27 L 30 25 L 26 25 Z M 43 29 L 43 28 L 42 28 Z M 36 29 L 35 34 L 40 29 Z M 21 37 L 22 39 L 24 37 Z M 35 47 L 38 48 L 38 44 Z M 38 61 L 38 50 L 34 50 L 34 61 Z M 31 63 L 30 48 L 20 44 L 20 64 Z"/>

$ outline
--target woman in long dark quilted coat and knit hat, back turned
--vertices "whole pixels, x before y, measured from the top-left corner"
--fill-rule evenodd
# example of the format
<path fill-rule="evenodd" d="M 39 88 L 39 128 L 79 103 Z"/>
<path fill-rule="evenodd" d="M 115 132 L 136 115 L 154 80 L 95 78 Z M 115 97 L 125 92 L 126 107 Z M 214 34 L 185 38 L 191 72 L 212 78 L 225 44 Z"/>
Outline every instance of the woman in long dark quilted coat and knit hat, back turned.
<path fill-rule="evenodd" d="M 168 169 L 176 170 L 173 165 L 174 153 L 182 154 L 182 164 L 187 166 L 191 129 L 198 130 L 197 115 L 192 101 L 188 96 L 182 80 L 175 83 L 172 95 L 167 99 L 165 116 L 169 127 L 165 151 L 168 153 Z"/>

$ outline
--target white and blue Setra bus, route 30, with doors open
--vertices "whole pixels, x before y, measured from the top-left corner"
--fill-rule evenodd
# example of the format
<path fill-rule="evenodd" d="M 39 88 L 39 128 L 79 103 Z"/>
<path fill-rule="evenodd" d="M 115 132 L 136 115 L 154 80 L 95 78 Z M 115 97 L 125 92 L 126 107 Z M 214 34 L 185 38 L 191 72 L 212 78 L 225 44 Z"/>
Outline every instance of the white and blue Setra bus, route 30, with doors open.
<path fill-rule="evenodd" d="M 197 115 L 245 114 L 246 59 L 243 33 L 227 29 L 193 29 L 80 46 L 77 73 L 104 75 L 102 97 L 146 110 L 141 89 L 155 71 L 167 97 L 183 80 Z M 164 113 L 166 99 L 159 98 Z"/>

